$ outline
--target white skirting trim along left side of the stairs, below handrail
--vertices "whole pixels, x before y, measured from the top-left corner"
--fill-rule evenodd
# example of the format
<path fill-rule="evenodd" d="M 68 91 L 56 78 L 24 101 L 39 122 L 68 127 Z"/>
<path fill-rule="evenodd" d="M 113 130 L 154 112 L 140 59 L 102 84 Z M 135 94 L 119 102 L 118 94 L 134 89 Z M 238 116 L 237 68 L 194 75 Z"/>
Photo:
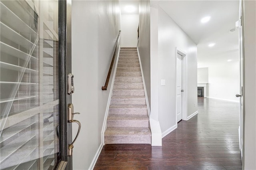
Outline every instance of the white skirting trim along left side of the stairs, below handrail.
<path fill-rule="evenodd" d="M 113 86 L 114 86 L 114 80 L 115 80 L 115 76 L 116 76 L 116 67 L 117 67 L 117 63 L 118 63 L 118 59 L 119 59 L 119 52 L 120 52 L 120 45 L 119 45 L 119 48 L 118 48 L 118 53 L 117 53 L 117 58 L 116 58 L 116 65 L 115 65 L 115 69 L 114 69 L 114 75 L 113 75 L 113 79 L 112 79 L 112 83 L 111 83 L 111 87 L 110 87 L 110 93 L 109 93 L 109 96 L 108 96 L 108 103 L 107 103 L 105 117 L 104 117 L 102 129 L 101 129 L 101 142 L 102 142 L 102 144 L 105 143 L 104 142 L 104 132 L 107 128 L 108 109 L 109 109 L 109 106 L 110 106 L 110 100 L 111 100 L 112 90 L 113 90 Z"/>

